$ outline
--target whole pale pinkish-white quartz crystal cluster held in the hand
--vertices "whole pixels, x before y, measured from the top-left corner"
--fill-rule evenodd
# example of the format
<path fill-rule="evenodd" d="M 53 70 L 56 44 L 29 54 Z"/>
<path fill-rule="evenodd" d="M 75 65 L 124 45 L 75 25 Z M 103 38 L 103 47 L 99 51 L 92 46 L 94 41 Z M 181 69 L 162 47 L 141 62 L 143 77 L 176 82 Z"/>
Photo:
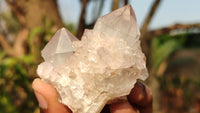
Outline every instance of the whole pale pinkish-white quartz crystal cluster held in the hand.
<path fill-rule="evenodd" d="M 99 113 L 147 78 L 139 36 L 130 5 L 100 17 L 81 41 L 62 28 L 42 50 L 37 73 L 73 113 Z"/>

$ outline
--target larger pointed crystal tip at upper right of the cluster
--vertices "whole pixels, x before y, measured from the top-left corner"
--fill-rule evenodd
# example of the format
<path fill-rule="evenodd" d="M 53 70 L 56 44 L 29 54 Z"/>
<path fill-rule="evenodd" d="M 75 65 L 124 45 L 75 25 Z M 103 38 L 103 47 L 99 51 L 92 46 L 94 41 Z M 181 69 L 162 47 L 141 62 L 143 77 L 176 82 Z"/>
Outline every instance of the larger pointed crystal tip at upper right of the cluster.
<path fill-rule="evenodd" d="M 94 30 L 113 37 L 124 38 L 131 47 L 140 36 L 136 16 L 130 5 L 100 17 L 94 26 Z"/>

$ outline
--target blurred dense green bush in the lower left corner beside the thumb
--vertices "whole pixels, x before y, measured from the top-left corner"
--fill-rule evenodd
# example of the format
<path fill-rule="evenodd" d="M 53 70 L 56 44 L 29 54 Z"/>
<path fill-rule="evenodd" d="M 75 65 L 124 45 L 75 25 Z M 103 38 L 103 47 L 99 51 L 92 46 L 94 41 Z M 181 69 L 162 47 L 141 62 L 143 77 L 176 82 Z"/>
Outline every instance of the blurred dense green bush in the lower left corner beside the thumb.
<path fill-rule="evenodd" d="M 28 74 L 33 66 L 33 57 L 6 57 L 5 52 L 0 52 L 0 55 L 0 112 L 33 112 L 37 102 L 31 88 L 33 76 Z"/>

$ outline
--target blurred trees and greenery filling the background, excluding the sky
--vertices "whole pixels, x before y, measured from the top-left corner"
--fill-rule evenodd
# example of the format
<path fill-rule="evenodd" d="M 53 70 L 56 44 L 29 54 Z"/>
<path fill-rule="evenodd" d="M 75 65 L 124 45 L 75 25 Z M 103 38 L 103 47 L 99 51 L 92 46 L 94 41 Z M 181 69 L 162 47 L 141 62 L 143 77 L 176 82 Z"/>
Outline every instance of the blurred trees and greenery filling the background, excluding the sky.
<path fill-rule="evenodd" d="M 112 0 L 110 11 L 130 1 Z M 61 19 L 57 0 L 0 0 L 0 113 L 39 113 L 31 83 L 42 62 L 41 49 L 63 26 L 80 39 L 85 28 L 93 27 L 105 6 L 105 0 L 78 2 L 76 27 Z M 86 9 L 92 2 L 98 7 L 88 24 Z M 152 0 L 141 25 L 142 48 L 150 73 L 146 83 L 153 92 L 154 112 L 199 113 L 200 23 L 149 29 L 161 3 L 162 0 Z"/>

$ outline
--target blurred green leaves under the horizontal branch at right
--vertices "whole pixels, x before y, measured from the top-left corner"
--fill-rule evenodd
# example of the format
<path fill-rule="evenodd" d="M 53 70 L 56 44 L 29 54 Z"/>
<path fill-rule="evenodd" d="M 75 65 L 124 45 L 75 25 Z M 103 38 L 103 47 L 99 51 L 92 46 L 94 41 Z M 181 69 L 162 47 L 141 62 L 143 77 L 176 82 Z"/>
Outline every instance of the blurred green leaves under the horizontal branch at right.
<path fill-rule="evenodd" d="M 200 34 L 162 35 L 151 42 L 151 64 L 157 70 L 173 52 L 183 48 L 199 48 Z"/>

